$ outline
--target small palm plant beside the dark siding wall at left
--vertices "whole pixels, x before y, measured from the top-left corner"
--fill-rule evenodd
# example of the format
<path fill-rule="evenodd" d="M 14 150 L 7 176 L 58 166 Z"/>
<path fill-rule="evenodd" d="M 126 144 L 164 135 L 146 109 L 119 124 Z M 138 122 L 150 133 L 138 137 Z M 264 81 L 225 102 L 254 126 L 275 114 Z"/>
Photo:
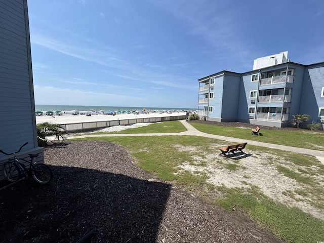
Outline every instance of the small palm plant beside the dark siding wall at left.
<path fill-rule="evenodd" d="M 58 124 L 51 124 L 51 123 L 39 123 L 36 125 L 37 129 L 37 139 L 38 139 L 38 146 L 44 147 L 47 144 L 46 136 L 55 135 L 58 140 L 63 138 L 62 133 L 64 129 Z"/>

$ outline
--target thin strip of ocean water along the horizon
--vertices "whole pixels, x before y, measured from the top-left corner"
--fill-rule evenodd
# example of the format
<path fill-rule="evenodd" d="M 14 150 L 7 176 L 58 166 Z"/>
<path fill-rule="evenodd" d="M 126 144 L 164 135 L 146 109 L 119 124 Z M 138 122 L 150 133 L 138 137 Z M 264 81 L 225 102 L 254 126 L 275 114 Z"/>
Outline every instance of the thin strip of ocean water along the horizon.
<path fill-rule="evenodd" d="M 78 111 L 88 111 L 88 110 L 114 110 L 114 111 L 123 111 L 123 110 L 196 110 L 196 108 L 180 108 L 180 107 L 125 107 L 125 106 L 84 106 L 84 105 L 35 105 L 35 111 L 57 111 L 60 110 L 64 111 L 71 111 L 71 110 L 78 110 Z"/>

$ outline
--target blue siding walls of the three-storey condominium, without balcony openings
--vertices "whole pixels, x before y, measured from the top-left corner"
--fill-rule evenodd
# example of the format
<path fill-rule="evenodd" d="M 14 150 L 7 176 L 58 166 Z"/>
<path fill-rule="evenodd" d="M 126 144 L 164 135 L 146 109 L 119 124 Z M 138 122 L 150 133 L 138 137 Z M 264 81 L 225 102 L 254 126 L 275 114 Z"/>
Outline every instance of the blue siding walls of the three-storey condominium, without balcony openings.
<path fill-rule="evenodd" d="M 285 75 L 287 69 L 292 70 L 289 75 L 293 76 L 293 83 L 281 81 L 282 83 L 260 85 L 261 73 L 266 75 L 273 73 L 274 77 L 276 77 Z M 260 73 L 259 82 L 252 82 L 252 75 L 257 73 Z M 215 98 L 210 100 L 210 105 L 214 106 L 214 113 L 209 113 L 209 118 L 217 119 L 211 120 L 245 121 L 263 126 L 287 127 L 291 126 L 291 119 L 294 114 L 309 114 L 312 117 L 310 122 L 312 120 L 319 122 L 320 118 L 324 118 L 318 115 L 319 108 L 324 107 L 324 97 L 321 97 L 322 88 L 324 87 L 324 63 L 302 65 L 287 62 L 241 74 L 222 71 L 213 75 L 221 74 L 223 75 L 218 77 L 219 82 L 215 82 Z M 201 78 L 199 80 L 205 79 Z M 273 79 L 274 82 L 275 80 L 276 78 Z M 291 98 L 290 102 L 287 100 L 280 102 L 279 99 L 270 102 L 269 94 L 267 97 L 262 97 L 261 101 L 259 100 L 259 94 L 262 90 L 271 91 L 271 97 L 277 99 L 273 95 L 278 95 L 278 89 L 290 89 L 290 97 L 287 97 L 287 100 Z M 250 98 L 251 91 L 257 91 L 258 97 Z M 252 102 L 252 100 L 255 102 Z M 249 114 L 249 107 L 255 107 L 256 112 L 260 107 L 259 112 L 262 112 L 258 114 L 260 119 L 251 120 L 249 116 L 252 114 Z M 285 116 L 281 117 L 281 113 L 278 111 L 276 114 L 280 115 L 278 118 L 270 118 L 267 116 L 266 109 L 262 107 L 269 107 L 268 111 L 270 113 L 275 113 L 276 107 L 288 108 L 289 117 L 285 113 L 283 113 Z"/>

